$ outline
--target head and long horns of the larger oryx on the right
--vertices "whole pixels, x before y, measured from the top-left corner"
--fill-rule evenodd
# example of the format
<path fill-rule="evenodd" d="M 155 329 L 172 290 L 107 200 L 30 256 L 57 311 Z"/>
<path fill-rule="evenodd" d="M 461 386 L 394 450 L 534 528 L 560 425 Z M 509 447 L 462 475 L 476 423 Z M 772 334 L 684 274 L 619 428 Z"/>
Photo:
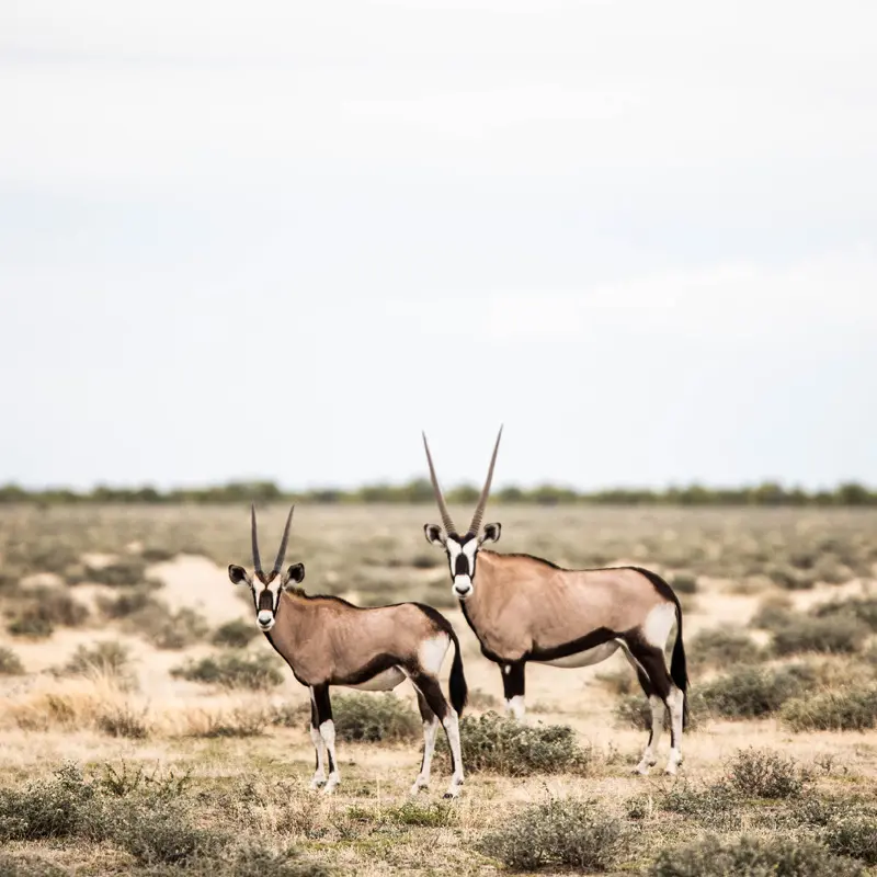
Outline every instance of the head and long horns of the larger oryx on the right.
<path fill-rule="evenodd" d="M 493 479 L 493 465 L 497 462 L 497 452 L 500 447 L 502 426 L 500 426 L 497 444 L 493 446 L 493 456 L 490 458 L 490 468 L 487 471 L 487 480 L 478 498 L 478 505 L 472 515 L 472 522 L 468 531 L 460 535 L 454 526 L 451 513 L 447 511 L 442 488 L 438 487 L 438 479 L 435 477 L 435 467 L 432 465 L 430 446 L 426 443 L 426 435 L 423 435 L 423 446 L 426 448 L 426 460 L 430 464 L 430 478 L 435 490 L 435 500 L 438 503 L 438 513 L 442 515 L 444 533 L 437 524 L 426 524 L 423 532 L 426 534 L 426 542 L 432 545 L 440 545 L 447 554 L 447 562 L 451 566 L 451 577 L 454 581 L 452 591 L 454 596 L 459 600 L 468 600 L 475 592 L 475 558 L 478 549 L 486 542 L 497 542 L 500 537 L 501 526 L 499 524 L 487 524 L 481 532 L 481 519 L 485 516 L 485 506 L 490 493 L 490 482 Z"/>

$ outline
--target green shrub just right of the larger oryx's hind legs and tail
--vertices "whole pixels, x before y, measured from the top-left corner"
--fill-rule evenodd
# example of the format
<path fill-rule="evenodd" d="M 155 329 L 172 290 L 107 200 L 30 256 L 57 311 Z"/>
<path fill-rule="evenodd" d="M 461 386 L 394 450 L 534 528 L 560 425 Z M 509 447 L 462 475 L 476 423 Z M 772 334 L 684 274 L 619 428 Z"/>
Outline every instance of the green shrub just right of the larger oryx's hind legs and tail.
<path fill-rule="evenodd" d="M 699 693 L 710 713 L 724 718 L 751 719 L 775 713 L 812 681 L 813 674 L 805 665 L 779 670 L 744 667 L 733 675 L 707 682 Z"/>

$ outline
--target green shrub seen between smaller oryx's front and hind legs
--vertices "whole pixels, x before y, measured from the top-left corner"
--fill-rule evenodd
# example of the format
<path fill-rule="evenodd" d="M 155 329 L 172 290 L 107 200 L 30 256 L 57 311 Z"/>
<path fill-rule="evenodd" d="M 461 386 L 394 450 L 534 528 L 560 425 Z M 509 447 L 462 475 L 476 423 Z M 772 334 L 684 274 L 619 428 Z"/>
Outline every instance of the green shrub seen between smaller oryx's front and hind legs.
<path fill-rule="evenodd" d="M 335 738 L 348 743 L 396 743 L 423 734 L 420 716 L 395 694 L 345 694 L 332 698 Z"/>

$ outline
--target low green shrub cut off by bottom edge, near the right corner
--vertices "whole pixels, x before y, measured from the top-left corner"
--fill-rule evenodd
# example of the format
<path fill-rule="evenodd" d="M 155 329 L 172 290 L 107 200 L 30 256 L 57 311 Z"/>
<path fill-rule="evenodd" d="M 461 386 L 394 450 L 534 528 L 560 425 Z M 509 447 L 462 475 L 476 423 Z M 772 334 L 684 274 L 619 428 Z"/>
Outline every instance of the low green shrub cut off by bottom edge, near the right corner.
<path fill-rule="evenodd" d="M 796 838 L 706 836 L 662 850 L 648 877 L 854 877 L 858 863 Z"/>

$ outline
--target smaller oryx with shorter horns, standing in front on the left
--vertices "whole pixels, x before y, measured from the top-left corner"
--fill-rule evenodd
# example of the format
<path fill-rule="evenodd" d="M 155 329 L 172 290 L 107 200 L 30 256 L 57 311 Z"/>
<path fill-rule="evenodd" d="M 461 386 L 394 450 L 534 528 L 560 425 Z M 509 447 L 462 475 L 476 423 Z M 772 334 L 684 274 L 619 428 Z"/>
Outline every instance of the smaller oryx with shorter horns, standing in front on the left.
<path fill-rule="evenodd" d="M 410 679 L 423 719 L 423 761 L 411 794 L 429 785 L 435 734 L 441 722 L 451 748 L 453 768 L 445 797 L 456 797 L 463 785 L 458 717 L 466 705 L 467 688 L 454 628 L 441 613 L 421 603 L 362 608 L 337 596 L 306 594 L 296 586 L 305 578 L 303 563 L 294 563 L 282 572 L 294 509 L 286 519 L 274 568 L 264 572 L 259 558 L 255 508 L 252 508 L 254 576 L 251 578 L 243 567 L 232 563 L 228 577 L 235 584 L 250 585 L 259 629 L 289 664 L 296 680 L 310 692 L 310 739 L 317 750 L 311 787 L 324 784 L 324 791 L 331 793 L 341 778 L 329 686 L 390 691 Z M 448 705 L 438 684 L 438 672 L 452 643 L 454 660 Z"/>

